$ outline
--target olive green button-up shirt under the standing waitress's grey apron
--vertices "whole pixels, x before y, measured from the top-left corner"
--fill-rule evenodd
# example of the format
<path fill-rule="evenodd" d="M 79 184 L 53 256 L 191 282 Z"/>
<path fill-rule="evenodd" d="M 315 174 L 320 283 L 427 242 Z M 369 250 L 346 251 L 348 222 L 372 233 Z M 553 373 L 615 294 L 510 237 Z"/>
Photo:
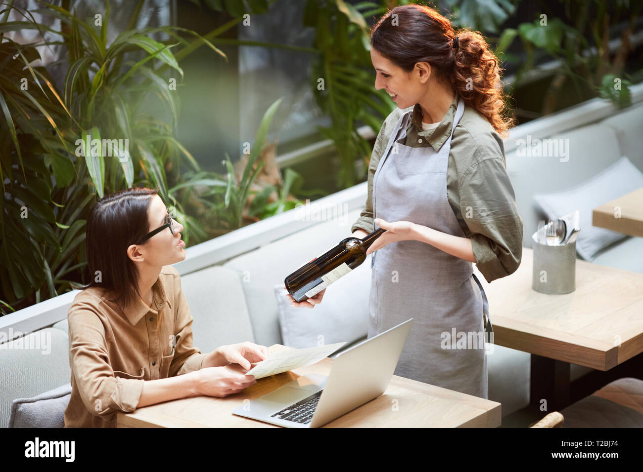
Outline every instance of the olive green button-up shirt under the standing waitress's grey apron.
<path fill-rule="evenodd" d="M 413 110 L 401 144 L 413 148 L 432 146 L 437 151 L 449 138 L 457 105 L 456 96 L 433 130 L 422 130 L 419 104 L 395 109 L 388 115 L 377 134 L 368 166 L 366 205 L 351 231 L 374 229 L 373 177 L 400 116 Z M 512 274 L 522 257 L 523 221 L 505 168 L 504 144 L 491 123 L 467 106 L 451 139 L 446 195 L 462 231 L 471 239 L 476 266 L 487 282 Z"/>

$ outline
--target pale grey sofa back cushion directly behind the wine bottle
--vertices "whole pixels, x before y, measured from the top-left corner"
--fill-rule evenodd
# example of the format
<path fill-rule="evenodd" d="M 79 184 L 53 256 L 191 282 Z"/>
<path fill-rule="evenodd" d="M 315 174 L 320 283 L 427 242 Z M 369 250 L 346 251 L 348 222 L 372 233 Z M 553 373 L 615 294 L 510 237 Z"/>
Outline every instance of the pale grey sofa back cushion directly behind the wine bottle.
<path fill-rule="evenodd" d="M 224 264 L 237 270 L 246 294 L 255 342 L 281 343 L 278 308 L 273 287 L 315 256 L 323 254 L 351 234 L 350 227 L 361 210 L 343 214 L 342 220 L 312 225 L 265 247 Z M 368 310 L 368 306 L 365 307 Z"/>

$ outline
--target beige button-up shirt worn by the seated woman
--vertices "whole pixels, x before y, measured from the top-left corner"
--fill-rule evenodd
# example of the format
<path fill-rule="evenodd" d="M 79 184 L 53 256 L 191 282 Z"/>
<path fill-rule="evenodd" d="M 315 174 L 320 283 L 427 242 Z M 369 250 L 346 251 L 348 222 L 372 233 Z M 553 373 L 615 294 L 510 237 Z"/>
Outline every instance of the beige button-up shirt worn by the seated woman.
<path fill-rule="evenodd" d="M 126 312 L 102 288 L 76 295 L 68 313 L 66 428 L 114 428 L 116 412 L 136 409 L 145 380 L 201 369 L 206 354 L 192 346 L 192 315 L 176 268 L 161 268 L 152 293 L 152 308 L 138 298 Z"/>

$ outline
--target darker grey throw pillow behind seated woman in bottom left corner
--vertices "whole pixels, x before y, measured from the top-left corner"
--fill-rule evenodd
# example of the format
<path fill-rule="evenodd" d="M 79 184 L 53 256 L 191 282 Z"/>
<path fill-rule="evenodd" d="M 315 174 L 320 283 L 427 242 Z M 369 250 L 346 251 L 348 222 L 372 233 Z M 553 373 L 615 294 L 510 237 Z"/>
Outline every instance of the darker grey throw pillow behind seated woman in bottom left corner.
<path fill-rule="evenodd" d="M 15 399 L 9 428 L 64 428 L 70 397 L 71 383 L 66 383 L 33 398 Z"/>

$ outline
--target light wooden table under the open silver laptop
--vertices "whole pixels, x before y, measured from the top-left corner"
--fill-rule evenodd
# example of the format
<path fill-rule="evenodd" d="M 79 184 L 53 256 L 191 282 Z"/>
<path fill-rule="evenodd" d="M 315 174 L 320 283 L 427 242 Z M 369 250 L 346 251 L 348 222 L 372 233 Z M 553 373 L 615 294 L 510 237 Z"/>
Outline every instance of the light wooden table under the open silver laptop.
<path fill-rule="evenodd" d="M 289 349 L 275 344 L 271 351 Z M 257 399 L 307 373 L 328 375 L 331 358 L 308 367 L 259 379 L 243 392 L 226 398 L 199 396 L 166 401 L 118 413 L 118 428 L 279 428 L 274 424 L 233 415 L 244 399 Z M 428 383 L 393 376 L 386 392 L 365 405 L 325 424 L 334 428 L 496 428 L 500 426 L 501 405 L 495 401 L 454 392 Z"/>

